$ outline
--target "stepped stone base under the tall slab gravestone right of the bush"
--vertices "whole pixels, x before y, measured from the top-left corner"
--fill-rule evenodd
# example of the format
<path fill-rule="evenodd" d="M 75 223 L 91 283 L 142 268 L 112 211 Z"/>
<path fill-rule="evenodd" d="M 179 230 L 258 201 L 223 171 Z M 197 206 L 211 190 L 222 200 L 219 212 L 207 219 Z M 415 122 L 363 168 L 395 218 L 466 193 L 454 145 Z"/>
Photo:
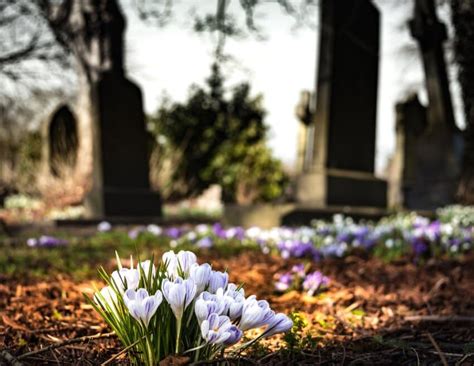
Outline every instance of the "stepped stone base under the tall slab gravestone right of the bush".
<path fill-rule="evenodd" d="M 311 207 L 387 207 L 387 182 L 368 173 L 326 170 L 302 174 L 296 200 Z"/>

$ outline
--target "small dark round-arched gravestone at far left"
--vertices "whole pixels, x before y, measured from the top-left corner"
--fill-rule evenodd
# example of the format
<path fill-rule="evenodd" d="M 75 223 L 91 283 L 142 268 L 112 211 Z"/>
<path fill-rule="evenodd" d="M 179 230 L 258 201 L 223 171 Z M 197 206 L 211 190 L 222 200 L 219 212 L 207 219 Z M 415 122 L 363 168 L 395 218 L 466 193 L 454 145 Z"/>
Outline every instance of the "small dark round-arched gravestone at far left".
<path fill-rule="evenodd" d="M 66 170 L 74 169 L 79 138 L 77 121 L 67 105 L 54 112 L 47 126 L 46 155 L 49 173 L 59 178 Z"/>

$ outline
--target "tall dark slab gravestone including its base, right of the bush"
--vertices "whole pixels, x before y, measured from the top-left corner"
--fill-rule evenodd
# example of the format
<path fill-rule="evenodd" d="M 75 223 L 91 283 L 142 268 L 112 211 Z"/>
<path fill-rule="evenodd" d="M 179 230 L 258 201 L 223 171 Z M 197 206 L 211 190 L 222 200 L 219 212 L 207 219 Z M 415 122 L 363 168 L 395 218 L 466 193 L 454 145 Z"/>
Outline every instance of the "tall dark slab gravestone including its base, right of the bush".
<path fill-rule="evenodd" d="M 313 206 L 385 207 L 375 178 L 380 16 L 369 0 L 322 0 L 314 147 L 296 199 Z"/>

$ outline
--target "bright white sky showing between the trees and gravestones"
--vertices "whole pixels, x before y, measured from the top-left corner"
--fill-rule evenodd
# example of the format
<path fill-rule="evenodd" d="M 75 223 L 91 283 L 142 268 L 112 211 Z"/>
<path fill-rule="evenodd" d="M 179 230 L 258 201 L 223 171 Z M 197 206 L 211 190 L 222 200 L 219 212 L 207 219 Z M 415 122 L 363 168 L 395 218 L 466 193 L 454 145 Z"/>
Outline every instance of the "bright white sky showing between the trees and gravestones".
<path fill-rule="evenodd" d="M 187 13 L 189 3 L 189 0 L 176 3 L 175 18 L 164 28 L 146 25 L 137 19 L 135 12 L 127 11 L 128 70 L 130 77 L 143 88 L 147 112 L 157 109 L 164 93 L 174 101 L 184 101 L 189 86 L 192 83 L 202 85 L 210 73 L 214 43 L 209 35 L 198 35 L 192 31 L 192 20 Z M 206 5 L 212 5 L 210 11 L 215 3 L 215 0 L 206 2 Z M 237 5 L 233 9 L 238 9 Z M 268 112 L 266 123 L 271 128 L 270 146 L 277 157 L 291 164 L 296 157 L 298 125 L 294 109 L 300 91 L 315 88 L 318 31 L 309 27 L 295 31 L 294 20 L 283 14 L 278 5 L 265 5 L 260 9 L 256 19 L 264 30 L 266 40 L 259 41 L 253 36 L 228 40 L 225 51 L 234 56 L 239 65 L 228 67 L 226 75 L 231 85 L 250 81 L 253 93 L 263 94 L 264 107 Z M 421 99 L 426 102 L 418 53 L 403 51 L 415 46 L 408 29 L 403 27 L 407 9 L 383 5 L 380 10 L 378 172 L 383 169 L 395 145 L 395 103 L 411 90 L 420 90 Z M 408 8 L 408 11 L 410 14 L 411 9 Z M 447 17 L 446 12 L 441 15 Z M 317 14 L 314 14 L 314 20 L 317 20 Z M 451 79 L 454 80 L 454 74 Z M 452 85 L 455 108 L 460 115 L 458 89 L 457 85 Z"/>

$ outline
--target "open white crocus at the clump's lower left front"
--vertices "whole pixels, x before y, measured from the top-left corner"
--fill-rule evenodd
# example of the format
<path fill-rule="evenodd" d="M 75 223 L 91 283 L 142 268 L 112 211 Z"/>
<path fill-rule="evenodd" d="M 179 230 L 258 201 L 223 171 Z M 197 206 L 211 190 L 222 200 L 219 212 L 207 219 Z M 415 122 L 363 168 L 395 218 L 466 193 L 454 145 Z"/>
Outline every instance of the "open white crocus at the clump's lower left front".
<path fill-rule="evenodd" d="M 160 290 L 149 296 L 148 291 L 144 288 L 138 289 L 138 291 L 129 289 L 125 292 L 123 300 L 130 311 L 130 315 L 148 327 L 150 319 L 163 301 L 163 295 Z"/>

